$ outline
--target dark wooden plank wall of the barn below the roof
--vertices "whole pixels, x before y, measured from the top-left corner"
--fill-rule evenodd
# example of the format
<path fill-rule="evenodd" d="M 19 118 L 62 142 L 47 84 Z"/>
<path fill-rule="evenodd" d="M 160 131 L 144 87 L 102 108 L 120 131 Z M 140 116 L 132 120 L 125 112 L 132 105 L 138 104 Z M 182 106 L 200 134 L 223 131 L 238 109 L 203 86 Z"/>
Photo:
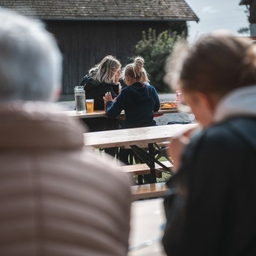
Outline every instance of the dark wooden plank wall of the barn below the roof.
<path fill-rule="evenodd" d="M 170 27 L 170 23 L 164 21 L 52 20 L 46 21 L 46 25 L 57 38 L 63 54 L 62 99 L 68 95 L 73 99 L 74 87 L 105 55 L 115 56 L 122 65 L 129 62 L 142 30 L 153 28 L 160 32 Z"/>

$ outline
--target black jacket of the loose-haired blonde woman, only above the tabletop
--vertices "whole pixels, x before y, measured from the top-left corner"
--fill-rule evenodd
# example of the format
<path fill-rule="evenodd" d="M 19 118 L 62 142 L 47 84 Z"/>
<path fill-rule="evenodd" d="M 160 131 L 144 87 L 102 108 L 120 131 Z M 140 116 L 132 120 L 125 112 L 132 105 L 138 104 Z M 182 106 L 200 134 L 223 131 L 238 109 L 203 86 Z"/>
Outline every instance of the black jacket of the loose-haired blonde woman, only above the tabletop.
<path fill-rule="evenodd" d="M 94 99 L 94 110 L 104 110 L 105 93 L 111 92 L 113 99 L 118 95 L 118 84 L 101 83 L 93 80 L 89 75 L 83 77 L 80 85 L 84 85 L 85 98 Z"/>

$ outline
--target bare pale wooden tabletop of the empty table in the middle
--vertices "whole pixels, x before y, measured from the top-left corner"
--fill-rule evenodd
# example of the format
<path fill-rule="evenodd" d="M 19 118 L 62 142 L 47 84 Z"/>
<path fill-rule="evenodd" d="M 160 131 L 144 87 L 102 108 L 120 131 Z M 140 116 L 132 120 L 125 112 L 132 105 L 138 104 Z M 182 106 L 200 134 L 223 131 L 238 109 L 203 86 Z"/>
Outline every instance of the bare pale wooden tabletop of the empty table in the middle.
<path fill-rule="evenodd" d="M 197 124 L 172 124 L 114 131 L 84 133 L 84 144 L 111 148 L 170 141 L 170 138 L 196 127 Z"/>

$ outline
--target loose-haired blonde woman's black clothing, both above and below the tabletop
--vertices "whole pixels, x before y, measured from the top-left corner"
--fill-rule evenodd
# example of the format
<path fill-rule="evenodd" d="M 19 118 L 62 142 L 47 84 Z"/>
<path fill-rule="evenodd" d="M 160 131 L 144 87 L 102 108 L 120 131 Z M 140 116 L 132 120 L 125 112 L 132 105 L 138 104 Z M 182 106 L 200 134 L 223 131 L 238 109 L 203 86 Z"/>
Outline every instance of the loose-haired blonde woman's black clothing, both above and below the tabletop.
<path fill-rule="evenodd" d="M 106 92 L 111 92 L 113 98 L 118 95 L 118 84 L 101 83 L 93 80 L 89 75 L 83 77 L 80 85 L 84 86 L 85 98 L 94 99 L 94 110 L 104 110 L 103 96 Z M 84 118 L 83 122 L 89 127 L 90 132 L 119 129 L 118 120 L 106 117 Z"/>

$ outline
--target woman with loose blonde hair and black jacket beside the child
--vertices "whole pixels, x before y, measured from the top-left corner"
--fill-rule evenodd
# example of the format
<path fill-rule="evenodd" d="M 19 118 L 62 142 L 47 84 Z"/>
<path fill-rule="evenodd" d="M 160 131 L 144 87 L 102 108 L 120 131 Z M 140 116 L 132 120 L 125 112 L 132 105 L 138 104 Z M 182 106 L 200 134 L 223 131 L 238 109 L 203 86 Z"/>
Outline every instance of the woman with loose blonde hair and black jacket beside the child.
<path fill-rule="evenodd" d="M 108 55 L 89 70 L 89 75 L 83 77 L 80 85 L 84 85 L 85 98 L 94 99 L 94 110 L 105 109 L 103 96 L 106 92 L 111 92 L 114 97 L 120 93 L 121 85 L 118 82 L 120 69 L 121 63 L 113 56 Z M 95 117 L 84 118 L 83 121 L 91 132 L 119 129 L 117 119 Z M 115 148 L 107 151 L 109 154 L 115 155 Z"/>

